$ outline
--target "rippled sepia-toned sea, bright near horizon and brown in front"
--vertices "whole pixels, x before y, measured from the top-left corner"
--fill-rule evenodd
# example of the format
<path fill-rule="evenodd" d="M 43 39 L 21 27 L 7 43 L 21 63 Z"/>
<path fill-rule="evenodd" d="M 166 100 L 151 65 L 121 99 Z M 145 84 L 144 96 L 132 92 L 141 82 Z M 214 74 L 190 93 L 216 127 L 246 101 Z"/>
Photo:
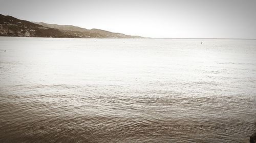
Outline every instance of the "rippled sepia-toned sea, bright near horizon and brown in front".
<path fill-rule="evenodd" d="M 256 131 L 256 40 L 0 37 L 0 80 L 0 142 L 249 142 Z"/>

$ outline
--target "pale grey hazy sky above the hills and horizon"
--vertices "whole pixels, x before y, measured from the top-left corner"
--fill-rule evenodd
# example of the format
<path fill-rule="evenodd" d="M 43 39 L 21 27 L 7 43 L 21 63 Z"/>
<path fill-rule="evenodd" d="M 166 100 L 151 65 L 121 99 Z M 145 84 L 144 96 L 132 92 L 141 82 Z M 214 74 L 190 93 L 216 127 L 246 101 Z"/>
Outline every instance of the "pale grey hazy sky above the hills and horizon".
<path fill-rule="evenodd" d="M 152 38 L 256 38 L 256 0 L 0 0 L 0 14 Z"/>

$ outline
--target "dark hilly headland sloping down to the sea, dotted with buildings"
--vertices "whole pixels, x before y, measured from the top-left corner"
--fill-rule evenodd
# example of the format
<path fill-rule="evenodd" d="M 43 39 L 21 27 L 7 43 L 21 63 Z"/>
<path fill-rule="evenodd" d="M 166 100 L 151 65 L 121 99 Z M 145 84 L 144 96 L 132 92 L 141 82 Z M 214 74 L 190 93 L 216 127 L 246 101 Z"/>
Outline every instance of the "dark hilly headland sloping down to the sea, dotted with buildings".
<path fill-rule="evenodd" d="M 73 25 L 30 22 L 0 14 L 0 36 L 59 38 L 143 38 Z"/>

